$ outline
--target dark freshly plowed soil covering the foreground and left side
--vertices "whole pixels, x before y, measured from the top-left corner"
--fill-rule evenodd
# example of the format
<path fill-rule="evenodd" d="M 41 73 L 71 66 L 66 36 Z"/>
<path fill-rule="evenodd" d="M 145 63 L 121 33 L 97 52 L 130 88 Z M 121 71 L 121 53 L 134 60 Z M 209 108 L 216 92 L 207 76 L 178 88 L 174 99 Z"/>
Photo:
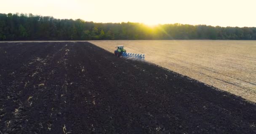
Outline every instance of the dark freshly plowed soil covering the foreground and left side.
<path fill-rule="evenodd" d="M 256 105 L 88 42 L 0 43 L 0 134 L 256 134 Z"/>

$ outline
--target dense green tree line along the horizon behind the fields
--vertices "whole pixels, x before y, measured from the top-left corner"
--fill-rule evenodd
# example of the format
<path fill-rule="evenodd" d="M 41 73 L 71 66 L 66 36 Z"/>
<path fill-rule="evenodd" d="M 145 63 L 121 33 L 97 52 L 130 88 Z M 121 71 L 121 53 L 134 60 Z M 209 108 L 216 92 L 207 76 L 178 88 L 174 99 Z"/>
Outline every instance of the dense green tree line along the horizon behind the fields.
<path fill-rule="evenodd" d="M 0 40 L 256 40 L 256 27 L 189 24 L 94 23 L 19 13 L 0 13 Z"/>

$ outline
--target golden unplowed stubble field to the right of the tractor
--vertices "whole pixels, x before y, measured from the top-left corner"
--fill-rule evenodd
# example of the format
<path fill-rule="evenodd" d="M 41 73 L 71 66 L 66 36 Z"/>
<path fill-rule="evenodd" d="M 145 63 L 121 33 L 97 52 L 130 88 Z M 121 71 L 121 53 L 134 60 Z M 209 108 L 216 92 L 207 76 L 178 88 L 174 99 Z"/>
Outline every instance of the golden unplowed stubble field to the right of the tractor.
<path fill-rule="evenodd" d="M 109 52 L 128 52 L 221 90 L 256 102 L 256 41 L 90 41 Z"/>

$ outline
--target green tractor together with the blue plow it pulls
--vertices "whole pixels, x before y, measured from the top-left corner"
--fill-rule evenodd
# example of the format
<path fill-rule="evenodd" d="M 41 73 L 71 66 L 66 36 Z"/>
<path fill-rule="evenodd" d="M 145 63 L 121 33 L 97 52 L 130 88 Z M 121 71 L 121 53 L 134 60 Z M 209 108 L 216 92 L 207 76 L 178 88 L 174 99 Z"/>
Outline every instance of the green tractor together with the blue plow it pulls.
<path fill-rule="evenodd" d="M 126 50 L 124 49 L 124 46 L 116 46 L 115 50 L 115 56 L 117 57 L 134 57 L 134 58 L 139 58 L 139 59 L 144 59 L 145 54 L 134 54 L 134 53 L 127 53 Z"/>

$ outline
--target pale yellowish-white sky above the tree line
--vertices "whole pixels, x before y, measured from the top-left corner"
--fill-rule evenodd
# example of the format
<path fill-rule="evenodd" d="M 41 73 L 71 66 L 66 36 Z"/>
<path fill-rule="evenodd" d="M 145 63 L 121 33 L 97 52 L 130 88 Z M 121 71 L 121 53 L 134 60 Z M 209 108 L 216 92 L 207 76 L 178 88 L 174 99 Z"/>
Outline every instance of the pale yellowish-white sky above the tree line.
<path fill-rule="evenodd" d="M 256 0 L 1 0 L 0 13 L 93 22 L 256 27 Z"/>

